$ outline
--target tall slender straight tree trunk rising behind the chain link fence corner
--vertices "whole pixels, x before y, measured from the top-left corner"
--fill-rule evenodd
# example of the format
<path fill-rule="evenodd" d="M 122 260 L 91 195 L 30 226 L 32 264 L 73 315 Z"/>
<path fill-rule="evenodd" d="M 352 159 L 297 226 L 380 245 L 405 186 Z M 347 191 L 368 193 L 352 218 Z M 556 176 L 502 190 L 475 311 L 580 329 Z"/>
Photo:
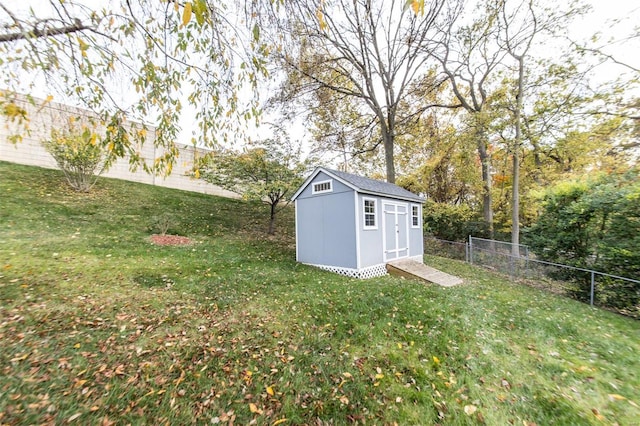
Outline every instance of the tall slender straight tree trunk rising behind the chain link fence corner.
<path fill-rule="evenodd" d="M 524 56 L 518 56 L 518 93 L 516 95 L 515 127 L 516 137 L 513 146 L 513 194 L 511 210 L 512 255 L 520 255 L 520 145 L 522 141 L 522 105 L 524 95 Z"/>

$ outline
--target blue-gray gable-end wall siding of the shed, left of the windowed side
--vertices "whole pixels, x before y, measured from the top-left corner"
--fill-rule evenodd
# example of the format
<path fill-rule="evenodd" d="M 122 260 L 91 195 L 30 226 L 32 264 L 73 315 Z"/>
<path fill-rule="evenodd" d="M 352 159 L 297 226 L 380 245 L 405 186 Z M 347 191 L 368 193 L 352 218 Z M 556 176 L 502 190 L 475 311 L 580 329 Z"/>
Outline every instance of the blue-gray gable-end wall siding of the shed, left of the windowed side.
<path fill-rule="evenodd" d="M 319 173 L 296 200 L 298 261 L 357 268 L 354 191 L 333 179 L 331 192 L 312 194 L 314 182 L 330 179 Z"/>

